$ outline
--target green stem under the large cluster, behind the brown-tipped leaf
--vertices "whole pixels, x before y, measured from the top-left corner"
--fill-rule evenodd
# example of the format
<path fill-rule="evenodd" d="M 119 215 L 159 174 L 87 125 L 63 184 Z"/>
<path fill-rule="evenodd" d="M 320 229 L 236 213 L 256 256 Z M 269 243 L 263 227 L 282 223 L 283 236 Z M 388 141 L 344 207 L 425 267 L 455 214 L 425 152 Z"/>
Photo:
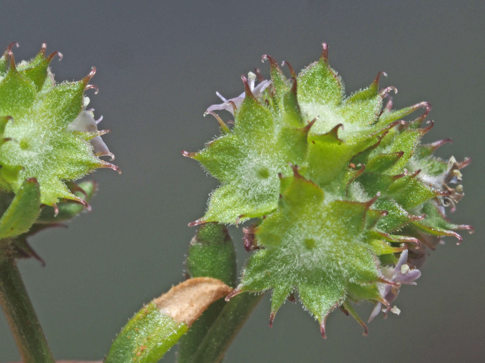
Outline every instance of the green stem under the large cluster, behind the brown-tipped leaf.
<path fill-rule="evenodd" d="M 222 362 L 227 348 L 262 297 L 262 294 L 245 292 L 227 302 L 200 343 L 191 363 Z"/>

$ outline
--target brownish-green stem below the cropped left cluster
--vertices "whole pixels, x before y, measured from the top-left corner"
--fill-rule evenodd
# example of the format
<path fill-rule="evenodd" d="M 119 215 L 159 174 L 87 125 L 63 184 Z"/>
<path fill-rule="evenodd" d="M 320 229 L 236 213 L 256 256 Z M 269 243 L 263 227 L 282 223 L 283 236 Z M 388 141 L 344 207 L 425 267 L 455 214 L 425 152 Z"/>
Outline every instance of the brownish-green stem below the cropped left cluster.
<path fill-rule="evenodd" d="M 23 363 L 54 363 L 18 271 L 12 249 L 0 240 L 0 304 Z"/>

